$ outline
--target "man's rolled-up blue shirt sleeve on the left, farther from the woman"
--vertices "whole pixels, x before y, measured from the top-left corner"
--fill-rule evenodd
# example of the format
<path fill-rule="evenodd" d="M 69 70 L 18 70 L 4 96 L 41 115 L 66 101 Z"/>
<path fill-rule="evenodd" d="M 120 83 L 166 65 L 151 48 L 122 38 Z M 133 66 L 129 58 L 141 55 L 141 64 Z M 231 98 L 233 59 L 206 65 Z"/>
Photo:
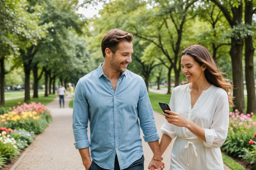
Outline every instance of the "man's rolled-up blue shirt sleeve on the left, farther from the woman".
<path fill-rule="evenodd" d="M 89 104 L 85 97 L 84 86 L 79 80 L 75 88 L 73 105 L 73 133 L 75 139 L 74 145 L 76 149 L 90 147 L 90 142 L 87 135 L 89 121 L 88 106 Z"/>

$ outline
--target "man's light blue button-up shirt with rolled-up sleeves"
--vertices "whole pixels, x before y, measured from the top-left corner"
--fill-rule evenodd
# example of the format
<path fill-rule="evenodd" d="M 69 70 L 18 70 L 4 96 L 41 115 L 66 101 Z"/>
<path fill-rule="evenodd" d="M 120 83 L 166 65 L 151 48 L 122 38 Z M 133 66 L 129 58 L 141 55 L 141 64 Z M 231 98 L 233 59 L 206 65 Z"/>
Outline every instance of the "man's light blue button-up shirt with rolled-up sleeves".
<path fill-rule="evenodd" d="M 76 85 L 74 145 L 77 149 L 91 147 L 93 161 L 104 169 L 114 169 L 117 155 L 120 169 L 125 169 L 143 155 L 140 127 L 146 142 L 160 137 L 143 78 L 126 70 L 119 77 L 114 91 L 110 80 L 103 74 L 102 64 L 80 78 Z"/>

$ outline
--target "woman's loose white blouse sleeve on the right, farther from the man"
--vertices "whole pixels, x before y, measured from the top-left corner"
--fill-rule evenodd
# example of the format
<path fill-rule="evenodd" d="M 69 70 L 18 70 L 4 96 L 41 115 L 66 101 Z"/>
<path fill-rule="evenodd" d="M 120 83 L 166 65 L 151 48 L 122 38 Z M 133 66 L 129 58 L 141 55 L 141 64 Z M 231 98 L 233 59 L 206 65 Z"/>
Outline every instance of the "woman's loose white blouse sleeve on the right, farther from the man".
<path fill-rule="evenodd" d="M 204 129 L 206 142 L 203 144 L 210 148 L 219 148 L 225 142 L 229 125 L 229 101 L 226 92 L 223 92 L 217 102 L 210 129 Z"/>

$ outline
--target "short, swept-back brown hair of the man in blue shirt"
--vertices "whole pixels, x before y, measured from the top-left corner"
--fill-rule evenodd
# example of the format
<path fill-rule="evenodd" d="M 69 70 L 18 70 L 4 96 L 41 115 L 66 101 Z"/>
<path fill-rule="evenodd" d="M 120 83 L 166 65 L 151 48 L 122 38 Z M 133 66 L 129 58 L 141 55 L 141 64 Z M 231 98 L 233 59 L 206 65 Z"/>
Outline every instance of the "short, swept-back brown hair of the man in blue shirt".
<path fill-rule="evenodd" d="M 106 48 L 109 48 L 112 51 L 112 53 L 115 54 L 116 50 L 118 50 L 118 44 L 122 40 L 133 42 L 133 34 L 125 32 L 120 29 L 112 29 L 108 31 L 108 33 L 103 37 L 101 41 L 101 50 L 103 57 L 105 57 L 106 55 Z"/>

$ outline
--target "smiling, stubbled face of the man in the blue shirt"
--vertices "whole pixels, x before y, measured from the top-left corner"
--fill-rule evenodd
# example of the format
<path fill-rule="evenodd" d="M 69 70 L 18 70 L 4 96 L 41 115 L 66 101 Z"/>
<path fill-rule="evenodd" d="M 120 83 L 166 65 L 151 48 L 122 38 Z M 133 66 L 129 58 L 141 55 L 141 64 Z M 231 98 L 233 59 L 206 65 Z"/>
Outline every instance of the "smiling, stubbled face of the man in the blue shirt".
<path fill-rule="evenodd" d="M 128 63 L 132 62 L 133 43 L 122 40 L 118 44 L 118 50 L 112 54 L 110 61 L 111 68 L 118 72 L 125 72 Z"/>

